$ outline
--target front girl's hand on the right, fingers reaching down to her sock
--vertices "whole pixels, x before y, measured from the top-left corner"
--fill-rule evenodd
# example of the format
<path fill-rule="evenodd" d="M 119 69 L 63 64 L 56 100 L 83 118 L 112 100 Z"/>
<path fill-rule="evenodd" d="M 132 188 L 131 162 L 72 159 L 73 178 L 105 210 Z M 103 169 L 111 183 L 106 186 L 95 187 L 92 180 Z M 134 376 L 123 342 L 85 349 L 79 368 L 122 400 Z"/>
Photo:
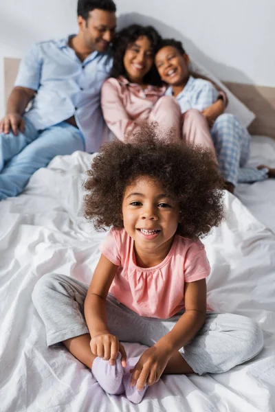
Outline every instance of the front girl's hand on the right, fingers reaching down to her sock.
<path fill-rule="evenodd" d="M 149 347 L 137 362 L 135 367 L 131 369 L 131 386 L 137 383 L 137 390 L 142 390 L 147 384 L 153 385 L 162 376 L 162 373 L 173 352 L 167 350 L 166 347 Z"/>

